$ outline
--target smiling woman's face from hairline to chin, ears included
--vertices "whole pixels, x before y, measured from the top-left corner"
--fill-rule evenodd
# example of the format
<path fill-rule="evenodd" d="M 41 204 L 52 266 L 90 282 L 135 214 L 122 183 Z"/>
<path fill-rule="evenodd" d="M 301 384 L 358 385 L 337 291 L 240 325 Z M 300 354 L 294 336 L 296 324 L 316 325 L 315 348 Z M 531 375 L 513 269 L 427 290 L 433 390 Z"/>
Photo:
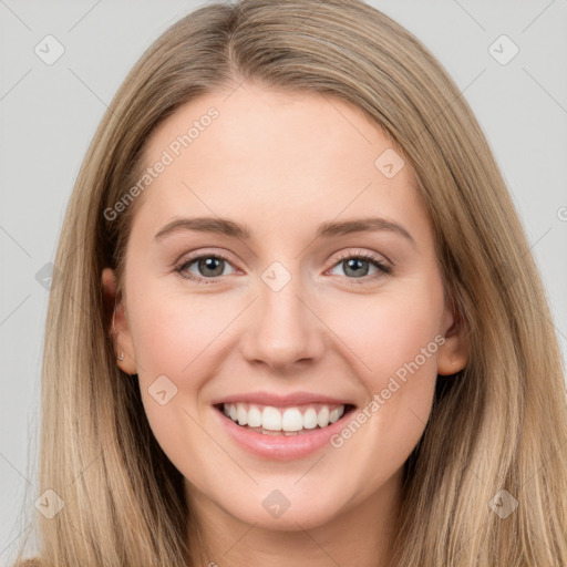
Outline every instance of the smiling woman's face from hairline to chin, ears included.
<path fill-rule="evenodd" d="M 339 99 L 241 86 L 168 117 L 146 166 L 116 349 L 188 495 L 279 529 L 375 511 L 466 362 L 409 163 Z"/>

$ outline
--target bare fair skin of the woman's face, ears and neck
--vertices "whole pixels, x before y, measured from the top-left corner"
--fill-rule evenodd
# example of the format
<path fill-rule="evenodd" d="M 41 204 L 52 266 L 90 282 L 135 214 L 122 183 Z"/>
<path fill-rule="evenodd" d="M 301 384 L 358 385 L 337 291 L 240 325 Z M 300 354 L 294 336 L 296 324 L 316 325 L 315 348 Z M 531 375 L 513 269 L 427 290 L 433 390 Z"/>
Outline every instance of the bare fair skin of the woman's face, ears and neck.
<path fill-rule="evenodd" d="M 210 106 L 219 117 L 138 197 L 114 318 L 118 364 L 138 374 L 146 416 L 186 478 L 210 561 L 385 566 L 402 467 L 423 433 L 436 375 L 457 372 L 468 354 L 444 300 L 414 174 L 408 162 L 392 178 L 374 166 L 392 143 L 347 102 L 250 84 L 177 110 L 153 133 L 147 165 Z M 402 225 L 415 244 L 388 230 L 313 240 L 320 223 L 369 215 Z M 154 238 L 189 216 L 229 218 L 255 236 Z M 188 252 L 229 261 L 217 277 L 194 261 L 186 271 L 217 280 L 198 285 L 175 271 Z M 363 261 L 357 277 L 339 255 L 360 252 L 392 272 Z M 276 260 L 291 276 L 277 292 L 261 279 Z M 114 305 L 110 268 L 102 284 Z M 261 458 L 227 436 L 210 405 L 239 392 L 302 390 L 362 409 L 436 336 L 444 344 L 340 449 Z M 177 386 L 165 405 L 147 391 L 163 374 Z M 276 488 L 290 502 L 279 517 L 262 506 Z"/>

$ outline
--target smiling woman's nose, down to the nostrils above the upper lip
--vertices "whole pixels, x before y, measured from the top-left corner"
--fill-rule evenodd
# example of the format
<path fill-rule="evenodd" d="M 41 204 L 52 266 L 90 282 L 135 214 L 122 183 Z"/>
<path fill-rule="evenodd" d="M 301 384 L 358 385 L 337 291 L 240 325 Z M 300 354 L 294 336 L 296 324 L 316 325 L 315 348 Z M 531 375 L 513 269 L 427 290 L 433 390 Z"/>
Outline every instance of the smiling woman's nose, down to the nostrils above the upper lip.
<path fill-rule="evenodd" d="M 293 276 L 279 291 L 260 281 L 241 342 L 243 355 L 250 364 L 286 373 L 321 358 L 324 324 L 315 300 L 305 297 L 297 280 Z"/>

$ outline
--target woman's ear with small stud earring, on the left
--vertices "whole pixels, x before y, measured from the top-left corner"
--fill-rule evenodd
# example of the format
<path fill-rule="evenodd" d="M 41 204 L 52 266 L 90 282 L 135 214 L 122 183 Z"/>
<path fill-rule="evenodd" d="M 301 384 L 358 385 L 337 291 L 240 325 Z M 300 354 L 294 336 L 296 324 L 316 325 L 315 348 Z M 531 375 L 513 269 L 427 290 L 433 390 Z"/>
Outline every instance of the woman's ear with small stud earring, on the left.
<path fill-rule="evenodd" d="M 109 333 L 114 342 L 116 351 L 116 364 L 126 374 L 136 374 L 136 359 L 134 352 L 134 343 L 130 332 L 126 318 L 126 309 L 122 298 L 116 297 L 117 282 L 114 270 L 104 268 L 102 270 L 102 288 L 105 311 L 111 316 Z M 117 360 L 121 353 L 124 353 L 122 361 Z"/>

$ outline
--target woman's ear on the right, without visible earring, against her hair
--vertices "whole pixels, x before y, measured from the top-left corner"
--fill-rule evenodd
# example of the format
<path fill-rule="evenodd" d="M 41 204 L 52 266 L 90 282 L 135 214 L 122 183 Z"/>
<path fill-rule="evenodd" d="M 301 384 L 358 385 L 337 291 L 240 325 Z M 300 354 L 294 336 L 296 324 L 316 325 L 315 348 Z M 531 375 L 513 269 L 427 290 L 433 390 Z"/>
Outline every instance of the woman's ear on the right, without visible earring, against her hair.
<path fill-rule="evenodd" d="M 437 351 L 437 374 L 451 375 L 466 365 L 470 355 L 470 340 L 461 313 L 447 301 L 443 313 L 443 337 L 445 342 Z"/>

